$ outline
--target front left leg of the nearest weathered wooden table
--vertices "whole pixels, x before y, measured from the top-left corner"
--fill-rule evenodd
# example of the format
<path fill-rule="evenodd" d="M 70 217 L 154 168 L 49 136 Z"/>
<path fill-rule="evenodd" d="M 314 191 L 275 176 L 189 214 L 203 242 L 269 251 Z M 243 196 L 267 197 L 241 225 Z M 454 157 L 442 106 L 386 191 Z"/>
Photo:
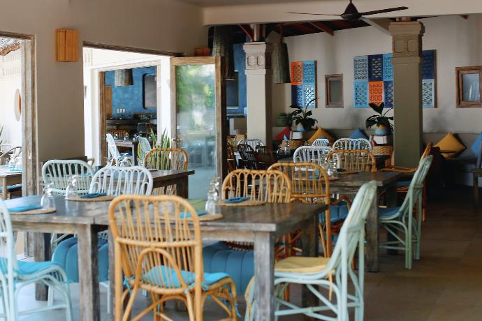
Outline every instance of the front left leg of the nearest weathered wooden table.
<path fill-rule="evenodd" d="M 78 260 L 81 321 L 101 320 L 101 301 L 98 290 L 97 231 L 92 225 L 78 230 Z"/>

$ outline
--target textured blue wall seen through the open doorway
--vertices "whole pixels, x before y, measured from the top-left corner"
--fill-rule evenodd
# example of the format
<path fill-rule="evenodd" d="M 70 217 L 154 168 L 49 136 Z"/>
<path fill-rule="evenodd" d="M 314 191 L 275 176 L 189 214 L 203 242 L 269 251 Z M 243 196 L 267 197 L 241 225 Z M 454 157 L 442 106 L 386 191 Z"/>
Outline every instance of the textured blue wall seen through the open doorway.
<path fill-rule="evenodd" d="M 125 108 L 124 117 L 132 117 L 134 113 L 156 112 L 156 108 L 144 108 L 143 87 L 143 76 L 156 75 L 156 67 L 133 68 L 132 73 L 134 84 L 124 87 L 114 86 L 114 71 L 105 73 L 105 84 L 112 86 L 112 118 L 120 116 L 117 114 L 117 108 Z M 244 89 L 246 89 L 245 85 Z"/>

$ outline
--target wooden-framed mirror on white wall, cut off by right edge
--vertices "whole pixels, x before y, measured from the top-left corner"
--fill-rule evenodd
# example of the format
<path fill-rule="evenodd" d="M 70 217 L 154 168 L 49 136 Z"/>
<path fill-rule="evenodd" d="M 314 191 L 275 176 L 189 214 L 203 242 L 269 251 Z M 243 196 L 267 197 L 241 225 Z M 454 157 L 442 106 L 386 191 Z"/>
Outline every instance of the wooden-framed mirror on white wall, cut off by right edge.
<path fill-rule="evenodd" d="M 457 67 L 457 107 L 482 107 L 482 66 Z"/>

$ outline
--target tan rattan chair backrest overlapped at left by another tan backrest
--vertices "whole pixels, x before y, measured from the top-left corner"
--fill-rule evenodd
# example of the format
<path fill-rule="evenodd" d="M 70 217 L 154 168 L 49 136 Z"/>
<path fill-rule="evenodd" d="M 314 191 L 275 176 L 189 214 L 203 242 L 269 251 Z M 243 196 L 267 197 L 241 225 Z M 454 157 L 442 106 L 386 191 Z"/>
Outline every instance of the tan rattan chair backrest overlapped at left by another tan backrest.
<path fill-rule="evenodd" d="M 268 170 L 284 172 L 291 180 L 291 200 L 330 204 L 328 175 L 315 163 L 275 163 Z"/>

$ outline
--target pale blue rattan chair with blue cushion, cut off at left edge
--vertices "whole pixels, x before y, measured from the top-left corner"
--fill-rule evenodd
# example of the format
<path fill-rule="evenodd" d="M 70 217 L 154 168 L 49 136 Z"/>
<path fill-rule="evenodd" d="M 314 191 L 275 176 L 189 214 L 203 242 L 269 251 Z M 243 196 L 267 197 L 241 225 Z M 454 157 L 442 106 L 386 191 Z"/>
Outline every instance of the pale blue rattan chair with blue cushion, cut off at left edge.
<path fill-rule="evenodd" d="M 20 315 L 65 309 L 66 320 L 72 320 L 71 297 L 64 269 L 54 262 L 22 262 L 15 256 L 10 212 L 0 200 L 0 297 L 3 313 L 0 319 L 18 320 Z M 43 283 L 61 294 L 61 304 L 18 311 L 18 294 L 25 285 Z"/>

